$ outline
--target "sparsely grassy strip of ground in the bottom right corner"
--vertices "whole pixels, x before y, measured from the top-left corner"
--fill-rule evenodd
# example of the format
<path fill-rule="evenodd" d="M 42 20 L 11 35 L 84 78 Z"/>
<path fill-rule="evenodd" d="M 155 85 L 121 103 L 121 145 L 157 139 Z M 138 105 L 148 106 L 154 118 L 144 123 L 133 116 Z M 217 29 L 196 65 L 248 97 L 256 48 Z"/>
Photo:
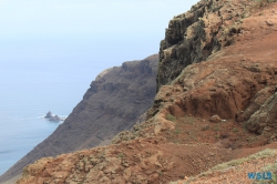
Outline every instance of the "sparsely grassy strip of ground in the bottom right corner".
<path fill-rule="evenodd" d="M 276 149 L 276 145 L 275 145 Z M 276 181 L 274 182 L 273 180 L 264 180 L 264 181 L 254 181 L 254 180 L 249 180 L 248 178 L 248 173 L 261 173 L 261 172 L 266 172 L 264 171 L 265 167 L 271 166 L 274 164 L 276 164 L 276 160 L 277 160 L 277 152 L 275 151 L 267 151 L 273 152 L 271 154 L 267 155 L 266 152 L 259 152 L 258 154 L 260 154 L 260 156 L 254 156 L 253 157 L 247 157 L 249 160 L 245 160 L 239 162 L 240 160 L 235 160 L 232 162 L 229 162 L 229 165 L 222 165 L 220 170 L 216 170 L 215 171 L 209 171 L 206 173 L 202 173 L 195 177 L 185 177 L 185 180 L 181 180 L 175 182 L 175 184 L 214 184 L 214 183 L 220 183 L 220 184 L 225 184 L 225 183 L 243 183 L 243 184 L 253 184 L 253 183 L 271 183 L 275 184 Z M 263 153 L 263 154 L 261 154 Z M 255 154 L 257 155 L 257 154 Z M 239 164 L 237 164 L 239 163 Z M 273 173 L 269 170 L 270 173 Z M 275 173 L 276 174 L 276 173 Z M 268 176 L 268 175 L 266 175 Z M 273 177 L 276 177 L 273 175 Z M 277 177 L 276 177 L 277 178 Z M 276 180 L 275 178 L 275 180 Z"/>

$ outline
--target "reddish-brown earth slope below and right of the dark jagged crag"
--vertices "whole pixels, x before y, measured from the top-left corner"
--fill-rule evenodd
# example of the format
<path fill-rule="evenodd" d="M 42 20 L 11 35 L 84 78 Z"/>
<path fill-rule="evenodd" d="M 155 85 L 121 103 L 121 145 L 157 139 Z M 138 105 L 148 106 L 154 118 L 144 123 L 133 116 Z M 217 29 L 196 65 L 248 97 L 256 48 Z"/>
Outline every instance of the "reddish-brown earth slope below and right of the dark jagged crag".
<path fill-rule="evenodd" d="M 219 163 L 277 149 L 276 119 L 264 126 L 249 122 L 276 94 L 277 2 L 254 7 L 236 30 L 229 32 L 233 44 L 161 86 L 146 122 L 120 133 L 111 145 L 39 160 L 17 183 L 183 183 Z M 275 101 L 270 105 L 276 110 Z M 222 120 L 211 122 L 216 114 Z M 198 183 L 250 183 L 238 176 L 246 177 L 253 166 L 247 162 L 236 167 L 243 174 L 215 172 Z"/>

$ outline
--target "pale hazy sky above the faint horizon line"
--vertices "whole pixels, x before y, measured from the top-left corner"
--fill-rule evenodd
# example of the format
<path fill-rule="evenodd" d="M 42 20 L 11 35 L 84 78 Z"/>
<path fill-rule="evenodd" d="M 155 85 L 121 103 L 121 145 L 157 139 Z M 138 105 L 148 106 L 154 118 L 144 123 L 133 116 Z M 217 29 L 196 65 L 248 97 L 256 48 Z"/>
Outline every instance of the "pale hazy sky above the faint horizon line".
<path fill-rule="evenodd" d="M 168 20 L 196 0 L 0 0 L 1 37 L 105 38 L 163 32 Z M 161 30 L 162 28 L 162 30 Z M 94 34 L 94 35 L 93 35 Z"/>

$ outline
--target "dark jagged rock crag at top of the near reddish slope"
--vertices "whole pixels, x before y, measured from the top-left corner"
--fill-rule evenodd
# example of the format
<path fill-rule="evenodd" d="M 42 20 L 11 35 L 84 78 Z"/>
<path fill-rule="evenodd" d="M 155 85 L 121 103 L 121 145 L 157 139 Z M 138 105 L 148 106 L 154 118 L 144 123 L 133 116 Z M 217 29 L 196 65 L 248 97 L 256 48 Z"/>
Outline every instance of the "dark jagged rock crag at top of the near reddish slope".
<path fill-rule="evenodd" d="M 174 17 L 161 41 L 157 90 L 172 82 L 184 68 L 205 61 L 234 42 L 240 20 L 255 1 L 202 0 L 186 13 Z"/>

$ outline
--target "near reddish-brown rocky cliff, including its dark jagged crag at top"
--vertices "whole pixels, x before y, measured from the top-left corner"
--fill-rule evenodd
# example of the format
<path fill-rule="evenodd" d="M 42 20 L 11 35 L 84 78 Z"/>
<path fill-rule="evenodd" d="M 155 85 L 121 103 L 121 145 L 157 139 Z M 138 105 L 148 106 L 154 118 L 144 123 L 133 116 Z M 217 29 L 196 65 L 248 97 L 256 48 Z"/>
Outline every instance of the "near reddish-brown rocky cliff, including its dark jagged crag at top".
<path fill-rule="evenodd" d="M 185 182 L 218 163 L 277 149 L 276 9 L 276 1 L 202 0 L 175 17 L 161 43 L 146 121 L 110 145 L 39 160 L 18 184 Z"/>

